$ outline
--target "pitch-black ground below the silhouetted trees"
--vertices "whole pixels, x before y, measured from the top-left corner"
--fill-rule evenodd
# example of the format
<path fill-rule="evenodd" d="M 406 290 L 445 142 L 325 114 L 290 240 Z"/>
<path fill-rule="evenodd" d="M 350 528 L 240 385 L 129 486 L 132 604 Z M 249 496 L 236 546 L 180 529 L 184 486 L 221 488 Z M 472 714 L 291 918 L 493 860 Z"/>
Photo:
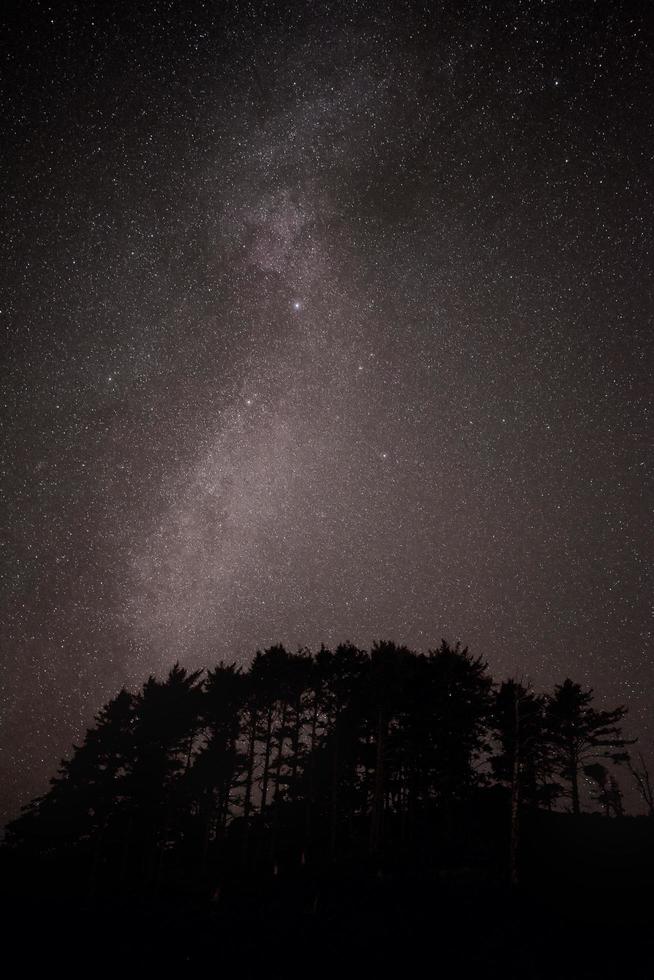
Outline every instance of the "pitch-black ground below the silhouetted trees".
<path fill-rule="evenodd" d="M 652 980 L 652 832 L 561 823 L 532 836 L 517 892 L 488 867 L 340 866 L 235 876 L 213 897 L 76 897 L 64 880 L 39 887 L 34 868 L 21 883 L 5 857 L 3 960 L 24 976 Z"/>

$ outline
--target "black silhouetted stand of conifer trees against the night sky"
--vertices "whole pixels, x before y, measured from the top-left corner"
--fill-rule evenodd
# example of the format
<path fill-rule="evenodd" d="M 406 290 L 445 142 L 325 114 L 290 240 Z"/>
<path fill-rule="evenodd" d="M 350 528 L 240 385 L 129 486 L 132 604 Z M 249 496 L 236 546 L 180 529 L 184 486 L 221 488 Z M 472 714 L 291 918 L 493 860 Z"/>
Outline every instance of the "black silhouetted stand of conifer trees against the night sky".
<path fill-rule="evenodd" d="M 445 641 L 426 654 L 273 646 L 247 669 L 206 673 L 176 664 L 100 710 L 6 845 L 81 856 L 92 881 L 156 887 L 219 866 L 420 862 L 493 799 L 515 882 L 526 809 L 576 816 L 594 803 L 619 817 L 623 765 L 652 813 L 625 713 L 570 679 L 547 694 L 495 684 Z"/>

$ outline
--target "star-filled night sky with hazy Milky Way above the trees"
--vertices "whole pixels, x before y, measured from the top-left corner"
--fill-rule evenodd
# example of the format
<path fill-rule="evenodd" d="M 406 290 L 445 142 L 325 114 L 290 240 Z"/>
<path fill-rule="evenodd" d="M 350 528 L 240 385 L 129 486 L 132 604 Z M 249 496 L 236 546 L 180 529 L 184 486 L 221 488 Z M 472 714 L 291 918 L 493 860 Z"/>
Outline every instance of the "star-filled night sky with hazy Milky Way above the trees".
<path fill-rule="evenodd" d="M 460 638 L 649 751 L 647 6 L 9 6 L 2 815 L 277 641 Z"/>

